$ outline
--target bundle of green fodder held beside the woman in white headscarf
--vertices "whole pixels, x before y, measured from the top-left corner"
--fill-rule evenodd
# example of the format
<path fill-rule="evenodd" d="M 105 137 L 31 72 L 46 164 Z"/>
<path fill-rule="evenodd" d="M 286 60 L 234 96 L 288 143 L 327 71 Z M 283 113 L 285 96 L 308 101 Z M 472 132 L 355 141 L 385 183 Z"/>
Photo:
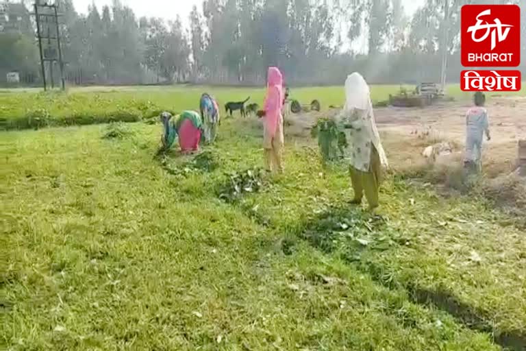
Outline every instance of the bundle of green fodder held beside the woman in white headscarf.
<path fill-rule="evenodd" d="M 316 125 L 312 127 L 311 135 L 318 139 L 324 165 L 342 160 L 347 139 L 334 121 L 326 118 L 318 119 Z"/>

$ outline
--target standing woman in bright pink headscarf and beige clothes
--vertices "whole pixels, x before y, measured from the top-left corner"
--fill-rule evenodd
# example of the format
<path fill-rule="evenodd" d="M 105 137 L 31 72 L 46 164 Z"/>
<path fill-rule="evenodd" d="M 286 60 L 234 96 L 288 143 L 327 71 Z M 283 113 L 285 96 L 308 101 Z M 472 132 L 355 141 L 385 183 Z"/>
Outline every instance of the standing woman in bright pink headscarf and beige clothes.
<path fill-rule="evenodd" d="M 283 75 L 277 67 L 268 68 L 267 90 L 264 110 L 259 111 L 259 117 L 264 117 L 263 148 L 267 171 L 283 173 L 281 153 L 284 146 L 283 136 Z"/>

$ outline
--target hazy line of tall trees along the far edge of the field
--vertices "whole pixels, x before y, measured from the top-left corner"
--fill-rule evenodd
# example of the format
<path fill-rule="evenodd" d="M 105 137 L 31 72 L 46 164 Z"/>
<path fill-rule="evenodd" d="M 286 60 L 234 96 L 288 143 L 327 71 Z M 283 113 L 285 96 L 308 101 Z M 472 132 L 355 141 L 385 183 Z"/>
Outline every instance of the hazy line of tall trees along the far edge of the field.
<path fill-rule="evenodd" d="M 247 85 L 264 83 L 273 65 L 289 84 L 340 84 L 351 71 L 376 83 L 439 82 L 444 52 L 458 81 L 460 7 L 471 2 L 426 0 L 410 17 L 401 0 L 205 0 L 185 28 L 118 0 L 86 14 L 57 0 L 68 82 Z M 496 2 L 521 5 L 526 38 L 526 0 L 476 1 Z M 7 71 L 40 81 L 35 32 L 34 21 L 0 30 L 0 82 Z"/>

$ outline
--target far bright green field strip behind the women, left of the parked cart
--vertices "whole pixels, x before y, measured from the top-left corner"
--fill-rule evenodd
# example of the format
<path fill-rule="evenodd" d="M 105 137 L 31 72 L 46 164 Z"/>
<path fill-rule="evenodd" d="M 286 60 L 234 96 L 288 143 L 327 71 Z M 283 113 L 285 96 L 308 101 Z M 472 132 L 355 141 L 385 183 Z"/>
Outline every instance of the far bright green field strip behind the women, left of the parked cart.
<path fill-rule="evenodd" d="M 397 86 L 379 86 L 373 93 L 375 101 L 388 98 Z M 128 112 L 132 116 L 149 117 L 160 110 L 181 111 L 198 109 L 199 97 L 203 92 L 213 94 L 223 110 L 227 101 L 240 101 L 251 97 L 251 101 L 262 104 L 264 89 L 258 88 L 213 88 L 206 86 L 175 87 L 120 87 L 120 88 L 73 88 L 68 94 L 14 93 L 6 90 L 0 93 L 0 118 L 21 119 L 32 114 L 49 115 L 55 119 L 72 119 L 90 114 L 106 116 L 116 112 Z M 293 90 L 293 97 L 310 104 L 320 99 L 323 106 L 338 105 L 342 102 L 342 88 L 299 88 Z M 88 124 L 88 123 L 86 123 Z"/>

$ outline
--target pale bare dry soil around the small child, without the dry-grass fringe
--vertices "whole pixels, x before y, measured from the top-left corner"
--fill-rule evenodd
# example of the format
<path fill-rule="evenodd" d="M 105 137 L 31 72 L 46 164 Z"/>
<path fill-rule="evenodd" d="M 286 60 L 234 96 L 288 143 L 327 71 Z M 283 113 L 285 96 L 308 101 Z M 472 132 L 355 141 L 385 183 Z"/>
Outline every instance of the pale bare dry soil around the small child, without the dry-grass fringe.
<path fill-rule="evenodd" d="M 427 145 L 450 141 L 459 154 L 464 147 L 465 114 L 471 101 L 438 102 L 427 108 L 375 108 L 377 126 L 391 165 L 395 169 L 424 162 Z M 484 165 L 490 177 L 510 173 L 516 167 L 517 141 L 526 139 L 526 97 L 494 97 L 486 104 L 492 140 L 484 145 Z M 291 114 L 286 134 L 308 136 L 318 117 L 334 114 L 308 112 Z"/>

